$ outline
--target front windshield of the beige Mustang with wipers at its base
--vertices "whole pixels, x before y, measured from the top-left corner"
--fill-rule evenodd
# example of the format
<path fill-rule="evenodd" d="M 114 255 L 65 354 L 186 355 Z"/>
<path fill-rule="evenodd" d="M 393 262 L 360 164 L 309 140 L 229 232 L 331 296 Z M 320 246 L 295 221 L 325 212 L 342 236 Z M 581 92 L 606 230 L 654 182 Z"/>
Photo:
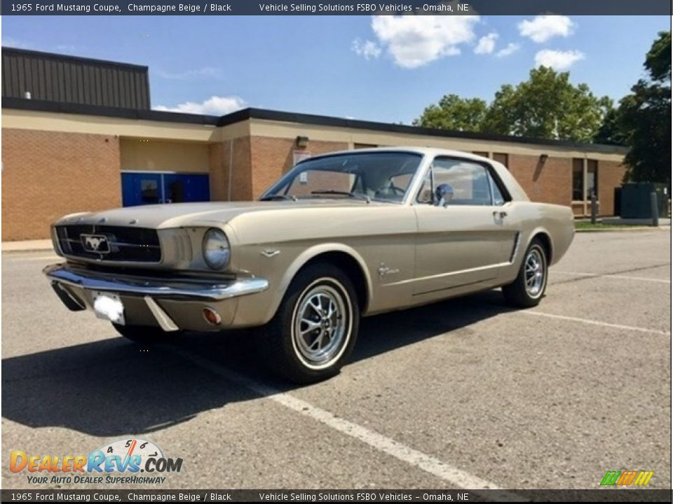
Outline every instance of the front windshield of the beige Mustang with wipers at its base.
<path fill-rule="evenodd" d="M 404 152 L 353 152 L 308 159 L 287 172 L 261 200 L 355 197 L 399 203 L 420 163 L 420 154 Z"/>

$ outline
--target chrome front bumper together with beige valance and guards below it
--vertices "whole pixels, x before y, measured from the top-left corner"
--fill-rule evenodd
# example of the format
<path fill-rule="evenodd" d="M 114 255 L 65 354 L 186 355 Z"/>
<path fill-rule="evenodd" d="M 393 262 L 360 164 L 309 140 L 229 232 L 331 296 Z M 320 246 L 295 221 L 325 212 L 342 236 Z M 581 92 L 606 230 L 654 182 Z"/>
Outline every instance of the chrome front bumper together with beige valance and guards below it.
<path fill-rule="evenodd" d="M 43 273 L 51 280 L 63 304 L 72 311 L 91 308 L 92 293 L 115 293 L 128 301 L 125 305 L 128 304 L 132 311 L 132 319 L 135 313 L 137 323 L 158 325 L 165 331 L 215 330 L 203 325 L 201 311 L 204 307 L 215 307 L 223 314 L 231 313 L 236 307 L 235 298 L 268 288 L 266 279 L 255 277 L 222 283 L 198 279 L 149 279 L 96 272 L 67 263 L 48 266 Z"/>

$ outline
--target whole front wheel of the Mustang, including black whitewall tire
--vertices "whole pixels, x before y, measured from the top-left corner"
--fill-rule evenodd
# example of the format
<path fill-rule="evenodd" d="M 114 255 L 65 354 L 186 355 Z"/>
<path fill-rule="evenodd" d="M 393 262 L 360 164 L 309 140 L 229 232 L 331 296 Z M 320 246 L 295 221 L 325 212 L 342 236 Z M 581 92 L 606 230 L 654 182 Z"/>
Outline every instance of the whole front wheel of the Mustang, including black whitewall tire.
<path fill-rule="evenodd" d="M 339 373 L 355 345 L 359 322 L 353 283 L 341 269 L 320 263 L 297 274 L 257 340 L 278 374 L 313 383 Z"/>

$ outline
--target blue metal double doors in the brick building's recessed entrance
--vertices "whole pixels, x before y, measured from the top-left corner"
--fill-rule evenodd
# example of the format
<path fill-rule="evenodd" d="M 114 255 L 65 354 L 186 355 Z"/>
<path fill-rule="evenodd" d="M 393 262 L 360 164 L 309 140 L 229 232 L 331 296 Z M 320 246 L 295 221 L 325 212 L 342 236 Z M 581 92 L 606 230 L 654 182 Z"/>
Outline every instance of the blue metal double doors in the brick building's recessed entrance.
<path fill-rule="evenodd" d="M 203 202 L 210 200 L 210 183 L 205 174 L 121 174 L 124 207 L 142 204 Z"/>

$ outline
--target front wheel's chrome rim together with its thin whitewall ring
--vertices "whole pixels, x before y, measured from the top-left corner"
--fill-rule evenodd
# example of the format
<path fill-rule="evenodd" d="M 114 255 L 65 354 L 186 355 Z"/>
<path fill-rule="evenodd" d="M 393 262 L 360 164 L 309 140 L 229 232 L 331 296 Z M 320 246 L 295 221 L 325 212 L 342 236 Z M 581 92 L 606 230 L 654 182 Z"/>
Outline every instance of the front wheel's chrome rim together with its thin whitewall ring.
<path fill-rule="evenodd" d="M 314 370 L 329 367 L 346 349 L 351 335 L 353 306 L 344 286 L 322 277 L 299 297 L 292 323 L 297 358 Z"/>

